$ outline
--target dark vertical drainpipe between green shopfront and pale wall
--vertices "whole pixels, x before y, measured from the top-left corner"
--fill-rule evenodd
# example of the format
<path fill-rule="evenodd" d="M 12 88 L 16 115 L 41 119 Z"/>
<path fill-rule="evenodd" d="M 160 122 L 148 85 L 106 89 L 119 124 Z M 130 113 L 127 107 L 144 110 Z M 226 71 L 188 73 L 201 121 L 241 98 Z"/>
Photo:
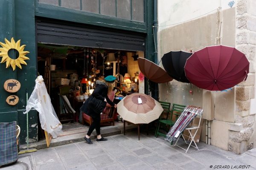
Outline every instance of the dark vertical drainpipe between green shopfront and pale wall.
<path fill-rule="evenodd" d="M 157 28 L 158 28 L 158 20 L 157 20 L 157 0 L 154 0 L 154 18 L 153 18 L 153 36 L 154 36 L 154 63 L 158 63 L 157 61 Z M 153 98 L 156 99 L 157 101 L 159 100 L 159 96 L 158 96 L 158 84 L 157 83 L 152 83 L 153 87 L 154 87 L 154 96 Z"/>

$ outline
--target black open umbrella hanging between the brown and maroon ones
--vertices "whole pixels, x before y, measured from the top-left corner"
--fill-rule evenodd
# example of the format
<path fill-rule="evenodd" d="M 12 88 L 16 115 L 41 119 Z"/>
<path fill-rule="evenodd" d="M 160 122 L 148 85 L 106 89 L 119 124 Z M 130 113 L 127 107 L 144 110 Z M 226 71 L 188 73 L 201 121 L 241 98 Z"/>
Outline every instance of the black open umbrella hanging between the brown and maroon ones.
<path fill-rule="evenodd" d="M 192 53 L 184 51 L 170 51 L 162 57 L 163 68 L 174 79 L 179 82 L 189 82 L 185 76 L 184 66 L 186 59 L 188 59 Z"/>

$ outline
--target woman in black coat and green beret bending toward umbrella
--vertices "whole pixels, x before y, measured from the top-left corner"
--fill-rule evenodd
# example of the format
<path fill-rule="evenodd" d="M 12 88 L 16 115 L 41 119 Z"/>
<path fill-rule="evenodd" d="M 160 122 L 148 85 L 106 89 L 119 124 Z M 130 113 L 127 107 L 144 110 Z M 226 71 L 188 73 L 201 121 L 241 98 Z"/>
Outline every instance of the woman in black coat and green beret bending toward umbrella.
<path fill-rule="evenodd" d="M 106 82 L 108 82 L 108 80 L 109 80 L 109 79 L 107 79 L 108 77 L 105 78 Z M 113 79 L 113 76 L 111 78 Z M 112 79 L 111 79 L 111 81 L 112 81 Z M 114 77 L 114 79 L 116 79 L 116 78 Z M 113 79 L 113 82 L 114 82 L 114 79 Z M 108 88 L 111 88 L 111 87 L 108 87 L 108 85 L 104 81 L 97 80 L 96 84 L 95 84 L 95 89 L 91 95 L 97 99 L 108 102 L 111 106 L 116 107 L 116 105 L 108 98 Z M 108 140 L 106 138 L 103 138 L 100 135 L 100 113 L 96 113 L 95 111 L 93 111 L 93 109 L 88 107 L 88 100 L 85 101 L 84 104 L 82 105 L 81 111 L 86 113 L 88 116 L 91 116 L 93 119 L 93 123 L 90 125 L 87 135 L 84 136 L 85 141 L 88 144 L 93 144 L 93 142 L 91 142 L 91 140 L 90 140 L 90 135 L 94 129 L 96 130 L 96 133 L 97 133 L 96 141 Z"/>

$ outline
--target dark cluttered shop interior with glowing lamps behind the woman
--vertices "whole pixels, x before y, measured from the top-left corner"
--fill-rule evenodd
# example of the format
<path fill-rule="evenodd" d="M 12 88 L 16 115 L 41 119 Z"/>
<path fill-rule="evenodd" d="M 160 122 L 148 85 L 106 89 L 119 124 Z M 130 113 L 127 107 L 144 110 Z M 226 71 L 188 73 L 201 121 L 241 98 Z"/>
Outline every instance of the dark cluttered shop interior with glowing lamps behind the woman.
<path fill-rule="evenodd" d="M 96 80 L 103 80 L 108 75 L 116 77 L 113 89 L 116 104 L 124 96 L 138 93 L 138 57 L 144 57 L 144 51 L 38 43 L 38 74 L 44 77 L 61 123 L 87 124 L 79 108 L 93 92 Z M 117 120 L 116 114 L 108 116 Z"/>

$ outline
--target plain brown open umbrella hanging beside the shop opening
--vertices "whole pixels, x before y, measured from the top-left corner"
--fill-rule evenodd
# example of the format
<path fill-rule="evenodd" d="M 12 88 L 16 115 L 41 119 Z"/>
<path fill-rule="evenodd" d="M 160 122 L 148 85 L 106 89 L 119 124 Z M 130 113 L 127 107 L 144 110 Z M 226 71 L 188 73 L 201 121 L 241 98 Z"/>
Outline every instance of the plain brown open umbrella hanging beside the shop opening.
<path fill-rule="evenodd" d="M 152 82 L 164 83 L 172 81 L 172 77 L 170 77 L 163 68 L 148 59 L 139 57 L 138 65 L 144 76 Z"/>

